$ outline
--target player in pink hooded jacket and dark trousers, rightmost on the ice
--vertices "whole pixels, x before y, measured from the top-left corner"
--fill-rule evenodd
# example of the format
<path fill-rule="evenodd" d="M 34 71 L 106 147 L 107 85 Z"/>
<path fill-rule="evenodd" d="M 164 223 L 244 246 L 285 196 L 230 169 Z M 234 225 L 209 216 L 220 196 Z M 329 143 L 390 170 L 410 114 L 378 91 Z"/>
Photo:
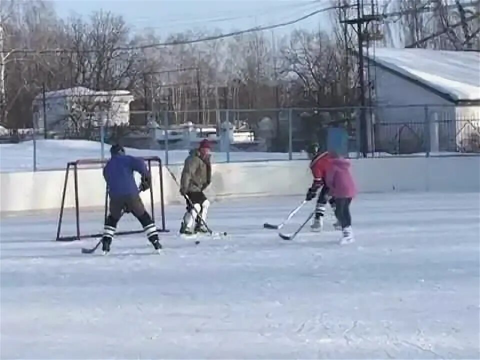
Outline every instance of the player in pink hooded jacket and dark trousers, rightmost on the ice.
<path fill-rule="evenodd" d="M 351 229 L 350 203 L 357 190 L 350 172 L 350 160 L 334 155 L 330 159 L 325 183 L 330 195 L 335 199 L 335 216 L 343 233 L 340 243 L 351 243 L 355 239 Z"/>

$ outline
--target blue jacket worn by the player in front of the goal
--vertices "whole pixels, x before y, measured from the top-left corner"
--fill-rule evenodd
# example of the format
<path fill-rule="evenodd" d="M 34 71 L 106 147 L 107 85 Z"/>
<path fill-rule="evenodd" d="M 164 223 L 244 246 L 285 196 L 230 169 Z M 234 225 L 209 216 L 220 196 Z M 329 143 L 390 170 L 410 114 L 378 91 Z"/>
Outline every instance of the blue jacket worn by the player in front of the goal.
<path fill-rule="evenodd" d="M 133 171 L 146 175 L 145 162 L 130 155 L 113 155 L 103 168 L 103 177 L 112 196 L 131 195 L 138 193 Z"/>

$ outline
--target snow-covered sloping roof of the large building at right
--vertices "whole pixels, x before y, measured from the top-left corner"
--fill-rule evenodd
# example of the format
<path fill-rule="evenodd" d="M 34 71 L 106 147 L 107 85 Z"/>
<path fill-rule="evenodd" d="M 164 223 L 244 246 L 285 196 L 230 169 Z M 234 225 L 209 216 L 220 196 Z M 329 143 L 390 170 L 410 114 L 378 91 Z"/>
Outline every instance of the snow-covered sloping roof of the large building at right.
<path fill-rule="evenodd" d="M 369 59 L 453 101 L 480 100 L 480 52 L 370 48 Z"/>

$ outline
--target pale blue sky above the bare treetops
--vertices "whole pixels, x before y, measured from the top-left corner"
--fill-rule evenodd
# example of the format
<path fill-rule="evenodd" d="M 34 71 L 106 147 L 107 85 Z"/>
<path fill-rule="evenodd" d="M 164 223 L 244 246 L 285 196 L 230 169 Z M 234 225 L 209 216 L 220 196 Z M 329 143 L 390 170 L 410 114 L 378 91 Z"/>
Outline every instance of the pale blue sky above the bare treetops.
<path fill-rule="evenodd" d="M 135 32 L 152 28 L 160 36 L 188 29 L 220 29 L 228 32 L 254 26 L 286 22 L 331 6 L 330 0 L 53 0 L 57 14 L 88 15 L 106 10 L 122 15 Z M 328 29 L 326 13 L 295 25 L 275 29 L 278 35 L 294 28 Z"/>

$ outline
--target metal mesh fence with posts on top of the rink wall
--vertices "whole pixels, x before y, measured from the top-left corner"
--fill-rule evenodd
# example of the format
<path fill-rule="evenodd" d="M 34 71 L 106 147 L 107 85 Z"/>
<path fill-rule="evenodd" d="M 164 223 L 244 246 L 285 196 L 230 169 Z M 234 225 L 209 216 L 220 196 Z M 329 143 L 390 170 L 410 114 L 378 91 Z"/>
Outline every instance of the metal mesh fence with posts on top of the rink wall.
<path fill-rule="evenodd" d="M 360 146 L 362 115 L 364 147 Z M 57 121 L 58 126 L 49 126 L 46 134 L 43 128 L 2 130 L 0 141 L 34 140 L 33 169 L 55 167 L 54 161 L 47 161 L 51 155 L 47 152 L 55 150 L 38 147 L 39 138 L 96 141 L 98 145 L 92 147 L 96 150 L 79 149 L 75 155 L 72 150 L 76 157 L 104 156 L 104 144 L 120 142 L 161 150 L 156 153 L 165 163 L 181 163 L 188 149 L 207 138 L 215 162 L 293 160 L 305 159 L 303 151 L 313 141 L 326 150 L 331 127 L 346 129 L 350 157 L 480 154 L 480 105 L 130 111 L 127 124 L 115 124 L 105 116 L 107 112 L 85 113 L 74 124 Z M 1 152 L 2 160 L 9 156 L 5 148 Z M 40 166 L 37 159 L 44 159 Z"/>

